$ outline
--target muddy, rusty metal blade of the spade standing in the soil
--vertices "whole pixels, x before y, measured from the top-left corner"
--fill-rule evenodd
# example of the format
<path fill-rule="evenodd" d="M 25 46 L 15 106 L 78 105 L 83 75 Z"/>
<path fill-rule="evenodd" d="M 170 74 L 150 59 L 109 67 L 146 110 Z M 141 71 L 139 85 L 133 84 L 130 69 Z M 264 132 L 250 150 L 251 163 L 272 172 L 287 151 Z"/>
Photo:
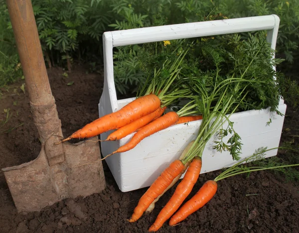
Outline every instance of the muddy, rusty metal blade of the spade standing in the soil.
<path fill-rule="evenodd" d="M 38 211 L 65 198 L 86 197 L 105 188 L 97 138 L 78 144 L 63 143 L 65 160 L 49 166 L 42 146 L 28 163 L 3 168 L 18 212 Z"/>

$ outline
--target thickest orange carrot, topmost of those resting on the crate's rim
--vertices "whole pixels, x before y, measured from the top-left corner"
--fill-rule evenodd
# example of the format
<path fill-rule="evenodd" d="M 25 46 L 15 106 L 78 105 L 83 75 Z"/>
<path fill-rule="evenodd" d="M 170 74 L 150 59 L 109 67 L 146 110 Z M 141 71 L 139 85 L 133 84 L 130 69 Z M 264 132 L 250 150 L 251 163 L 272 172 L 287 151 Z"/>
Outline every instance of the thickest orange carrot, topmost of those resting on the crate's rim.
<path fill-rule="evenodd" d="M 102 116 L 85 125 L 69 137 L 63 139 L 62 142 L 72 138 L 93 137 L 111 129 L 121 128 L 142 116 L 149 115 L 159 107 L 160 99 L 157 96 L 152 94 L 142 96 L 124 106 L 119 111 Z"/>

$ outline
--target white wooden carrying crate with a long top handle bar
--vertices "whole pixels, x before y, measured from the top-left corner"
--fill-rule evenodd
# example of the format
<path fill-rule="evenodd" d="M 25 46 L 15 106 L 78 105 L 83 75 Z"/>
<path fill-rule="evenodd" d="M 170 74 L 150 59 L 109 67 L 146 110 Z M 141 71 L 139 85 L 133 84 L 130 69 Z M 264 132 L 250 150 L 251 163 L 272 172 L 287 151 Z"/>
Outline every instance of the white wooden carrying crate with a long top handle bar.
<path fill-rule="evenodd" d="M 280 19 L 277 15 L 265 15 L 105 32 L 103 35 L 104 89 L 99 103 L 99 116 L 116 112 L 135 99 L 117 100 L 113 74 L 113 47 L 268 30 L 267 40 L 275 49 L 279 22 Z M 275 67 L 273 68 L 275 69 Z M 281 99 L 279 111 L 285 114 L 286 108 L 287 106 Z M 270 118 L 272 123 L 267 125 Z M 252 155 L 259 147 L 279 146 L 284 116 L 270 113 L 269 110 L 262 110 L 236 113 L 230 119 L 234 122 L 234 129 L 242 137 L 242 158 Z M 197 120 L 189 122 L 188 125 L 173 125 L 145 138 L 130 151 L 108 157 L 107 164 L 120 190 L 128 192 L 150 186 L 169 163 L 180 156 L 185 146 L 196 138 L 200 123 L 201 120 Z M 102 133 L 101 140 L 106 139 L 111 132 Z M 118 141 L 101 142 L 103 156 L 105 157 L 124 145 L 132 136 L 133 134 L 130 134 Z M 212 149 L 214 139 L 210 139 L 203 152 L 201 173 L 229 167 L 236 163 L 228 152 L 219 153 Z M 276 154 L 277 150 L 272 150 L 266 156 L 270 157 Z"/>

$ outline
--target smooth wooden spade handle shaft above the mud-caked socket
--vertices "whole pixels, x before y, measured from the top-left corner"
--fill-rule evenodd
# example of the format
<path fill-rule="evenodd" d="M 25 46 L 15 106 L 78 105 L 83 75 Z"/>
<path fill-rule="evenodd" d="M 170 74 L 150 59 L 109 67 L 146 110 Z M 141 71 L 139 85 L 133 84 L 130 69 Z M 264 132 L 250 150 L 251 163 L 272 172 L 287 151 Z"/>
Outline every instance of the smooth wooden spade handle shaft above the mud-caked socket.
<path fill-rule="evenodd" d="M 6 0 L 14 38 L 31 103 L 48 104 L 51 88 L 31 0 Z"/>

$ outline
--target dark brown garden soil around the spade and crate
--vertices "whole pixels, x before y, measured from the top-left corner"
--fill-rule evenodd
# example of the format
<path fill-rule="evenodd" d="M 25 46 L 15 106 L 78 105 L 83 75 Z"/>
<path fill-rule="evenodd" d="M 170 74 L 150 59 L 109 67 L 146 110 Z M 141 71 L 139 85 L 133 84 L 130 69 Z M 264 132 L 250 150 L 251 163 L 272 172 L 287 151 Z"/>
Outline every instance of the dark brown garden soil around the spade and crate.
<path fill-rule="evenodd" d="M 75 67 L 68 77 L 64 70 L 51 68 L 48 76 L 64 135 L 69 135 L 98 117 L 102 93 L 102 73 L 87 73 Z M 74 82 L 72 85 L 67 85 Z M 29 110 L 29 99 L 19 82 L 2 89 L 0 120 L 12 116 L 0 126 L 0 167 L 28 162 L 37 157 L 40 143 Z M 3 112 L 4 111 L 4 112 Z M 288 108 L 282 141 L 298 145 L 298 112 Z M 294 136 L 295 135 L 295 136 Z M 284 152 L 278 156 L 286 157 Z M 122 193 L 103 162 L 107 188 L 86 198 L 66 199 L 42 211 L 17 214 L 3 172 L 0 172 L 0 232 L 3 233 L 142 233 L 147 232 L 165 205 L 175 186 L 164 195 L 152 213 L 129 223 L 135 206 L 146 191 Z M 191 195 L 219 171 L 203 174 Z M 251 194 L 251 195 L 249 195 Z M 190 195 L 190 196 L 191 196 Z M 164 233 L 288 233 L 299 232 L 299 186 L 286 182 L 270 171 L 239 175 L 220 181 L 214 198 L 201 210 L 175 227 L 164 224 Z"/>

